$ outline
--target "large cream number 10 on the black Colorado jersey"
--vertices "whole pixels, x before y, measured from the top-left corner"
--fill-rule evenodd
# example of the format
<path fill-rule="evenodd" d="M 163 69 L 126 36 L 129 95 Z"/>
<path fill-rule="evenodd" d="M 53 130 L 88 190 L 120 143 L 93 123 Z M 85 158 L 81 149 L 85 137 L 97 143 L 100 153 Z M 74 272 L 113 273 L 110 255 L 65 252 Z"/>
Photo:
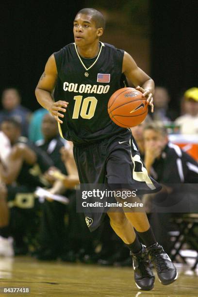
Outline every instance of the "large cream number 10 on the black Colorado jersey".
<path fill-rule="evenodd" d="M 79 113 L 81 109 L 81 117 L 90 119 L 94 116 L 96 105 L 98 100 L 96 97 L 86 97 L 82 101 L 82 96 L 74 96 L 75 105 L 74 105 L 74 112 L 72 118 L 79 118 Z M 82 103 L 82 108 L 81 108 Z"/>

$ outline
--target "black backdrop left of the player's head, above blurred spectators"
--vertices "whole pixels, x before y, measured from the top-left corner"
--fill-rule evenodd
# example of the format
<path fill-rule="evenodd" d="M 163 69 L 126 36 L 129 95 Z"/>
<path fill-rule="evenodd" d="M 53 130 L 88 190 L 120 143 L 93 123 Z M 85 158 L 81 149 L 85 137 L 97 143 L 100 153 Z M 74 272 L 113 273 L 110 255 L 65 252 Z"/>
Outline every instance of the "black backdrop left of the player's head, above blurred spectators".
<path fill-rule="evenodd" d="M 48 57 L 73 41 L 72 25 L 80 1 L 3 0 L 0 46 L 1 91 L 16 86 L 23 105 L 39 107 L 35 86 Z"/>

